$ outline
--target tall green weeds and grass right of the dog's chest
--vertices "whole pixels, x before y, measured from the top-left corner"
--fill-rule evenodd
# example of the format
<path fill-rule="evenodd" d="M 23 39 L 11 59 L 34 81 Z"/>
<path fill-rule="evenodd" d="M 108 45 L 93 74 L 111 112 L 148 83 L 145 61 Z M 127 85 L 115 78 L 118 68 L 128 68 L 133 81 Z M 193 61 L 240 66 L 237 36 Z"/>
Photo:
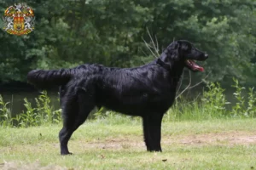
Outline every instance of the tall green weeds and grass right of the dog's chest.
<path fill-rule="evenodd" d="M 228 105 L 231 103 L 224 95 L 224 88 L 220 84 L 210 83 L 207 90 L 200 98 L 194 101 L 180 99 L 176 105 L 173 105 L 166 114 L 166 121 L 181 121 L 181 120 L 205 120 L 216 118 L 246 118 L 256 116 L 256 96 L 253 93 L 253 88 L 248 88 L 248 93 L 242 94 L 246 88 L 240 86 L 238 80 L 234 78 L 235 84 L 232 86 L 236 92 L 236 104 L 230 110 Z"/>

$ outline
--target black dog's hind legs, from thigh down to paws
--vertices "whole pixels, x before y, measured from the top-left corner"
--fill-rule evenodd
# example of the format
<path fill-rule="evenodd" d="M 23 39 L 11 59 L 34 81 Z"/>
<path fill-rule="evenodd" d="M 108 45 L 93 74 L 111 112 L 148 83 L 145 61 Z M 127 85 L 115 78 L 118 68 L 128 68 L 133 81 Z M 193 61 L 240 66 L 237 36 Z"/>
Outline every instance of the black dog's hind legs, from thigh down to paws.
<path fill-rule="evenodd" d="M 66 103 L 62 100 L 63 127 L 59 133 L 61 144 L 61 155 L 71 154 L 68 151 L 67 143 L 73 132 L 85 122 L 90 111 L 95 107 L 94 100 L 84 93 L 77 94 L 77 99 Z"/>

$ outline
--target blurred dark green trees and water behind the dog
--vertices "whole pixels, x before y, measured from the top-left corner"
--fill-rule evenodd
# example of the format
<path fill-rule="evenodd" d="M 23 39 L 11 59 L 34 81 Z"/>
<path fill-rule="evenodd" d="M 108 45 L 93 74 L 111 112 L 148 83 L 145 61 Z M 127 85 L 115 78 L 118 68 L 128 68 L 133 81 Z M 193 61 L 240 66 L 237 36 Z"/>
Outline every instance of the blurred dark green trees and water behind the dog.
<path fill-rule="evenodd" d="M 0 14 L 15 0 L 0 0 Z M 38 91 L 26 84 L 32 69 L 71 68 L 84 63 L 134 67 L 153 60 L 173 40 L 206 51 L 205 72 L 184 71 L 187 98 L 219 82 L 232 100 L 235 77 L 256 84 L 254 0 L 26 0 L 36 16 L 26 36 L 0 30 L 0 94 L 20 113 L 24 98 Z M 0 21 L 3 28 L 3 20 Z M 151 51 L 149 50 L 151 49 Z M 190 83 L 189 83 L 190 82 Z M 196 86 L 195 86 L 196 85 Z M 189 87 L 189 88 L 188 88 Z M 59 108 L 57 91 L 49 92 Z M 193 96 L 192 96 L 193 97 Z M 195 96 L 194 96 L 195 97 Z"/>

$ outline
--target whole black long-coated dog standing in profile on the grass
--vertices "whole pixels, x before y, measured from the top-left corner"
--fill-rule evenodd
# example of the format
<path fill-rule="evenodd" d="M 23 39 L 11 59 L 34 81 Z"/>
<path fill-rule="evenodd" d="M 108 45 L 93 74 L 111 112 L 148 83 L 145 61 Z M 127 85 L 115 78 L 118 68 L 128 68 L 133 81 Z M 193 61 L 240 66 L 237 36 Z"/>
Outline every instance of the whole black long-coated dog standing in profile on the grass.
<path fill-rule="evenodd" d="M 194 48 L 190 42 L 176 41 L 148 65 L 135 68 L 79 65 L 56 71 L 34 70 L 28 73 L 27 79 L 41 89 L 54 85 L 61 87 L 61 155 L 70 154 L 68 140 L 95 106 L 142 116 L 147 150 L 161 151 L 162 117 L 174 102 L 183 68 L 203 71 L 194 59 L 207 58 L 207 54 Z"/>

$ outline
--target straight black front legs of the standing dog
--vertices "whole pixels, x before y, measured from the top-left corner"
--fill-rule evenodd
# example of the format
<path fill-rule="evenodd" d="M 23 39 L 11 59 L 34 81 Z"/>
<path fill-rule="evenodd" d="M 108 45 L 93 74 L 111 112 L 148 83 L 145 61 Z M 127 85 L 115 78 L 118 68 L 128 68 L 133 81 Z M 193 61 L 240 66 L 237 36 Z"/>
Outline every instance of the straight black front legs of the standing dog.
<path fill-rule="evenodd" d="M 149 114 L 143 117 L 144 139 L 148 151 L 162 151 L 161 122 L 164 114 Z"/>

